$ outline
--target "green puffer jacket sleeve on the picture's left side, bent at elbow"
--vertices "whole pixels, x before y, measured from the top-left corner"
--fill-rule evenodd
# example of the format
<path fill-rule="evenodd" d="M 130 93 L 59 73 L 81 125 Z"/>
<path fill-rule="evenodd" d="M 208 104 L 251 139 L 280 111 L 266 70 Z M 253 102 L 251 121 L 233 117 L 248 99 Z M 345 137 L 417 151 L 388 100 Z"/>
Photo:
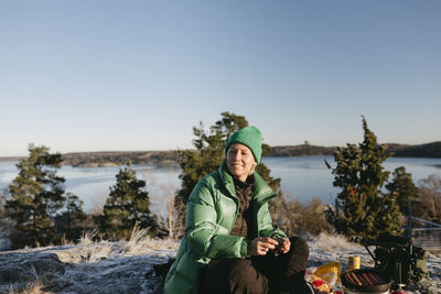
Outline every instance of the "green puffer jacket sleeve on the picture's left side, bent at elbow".
<path fill-rule="evenodd" d="M 186 205 L 185 235 L 196 255 L 201 258 L 245 258 L 247 241 L 229 232 L 215 233 L 220 228 L 216 221 L 212 185 L 203 178 L 190 195 Z"/>

